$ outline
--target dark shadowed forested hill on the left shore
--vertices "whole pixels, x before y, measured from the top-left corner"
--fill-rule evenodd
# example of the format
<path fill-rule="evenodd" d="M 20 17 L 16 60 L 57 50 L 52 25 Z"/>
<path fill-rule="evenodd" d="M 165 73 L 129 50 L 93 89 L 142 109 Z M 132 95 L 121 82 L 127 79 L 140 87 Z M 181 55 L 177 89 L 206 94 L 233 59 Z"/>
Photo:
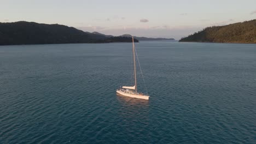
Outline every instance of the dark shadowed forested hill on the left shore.
<path fill-rule="evenodd" d="M 64 25 L 36 22 L 0 22 L 0 45 L 131 42 L 130 37 L 107 37 Z M 138 42 L 137 39 L 134 39 Z"/>

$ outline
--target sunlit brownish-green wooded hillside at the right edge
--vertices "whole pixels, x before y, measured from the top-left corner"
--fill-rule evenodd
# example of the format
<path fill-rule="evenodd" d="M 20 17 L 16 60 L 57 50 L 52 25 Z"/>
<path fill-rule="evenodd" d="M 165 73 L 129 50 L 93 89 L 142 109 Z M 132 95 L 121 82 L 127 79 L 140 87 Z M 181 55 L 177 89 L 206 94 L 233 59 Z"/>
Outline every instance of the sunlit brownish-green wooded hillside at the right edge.
<path fill-rule="evenodd" d="M 256 20 L 207 27 L 179 41 L 209 43 L 256 43 Z"/>

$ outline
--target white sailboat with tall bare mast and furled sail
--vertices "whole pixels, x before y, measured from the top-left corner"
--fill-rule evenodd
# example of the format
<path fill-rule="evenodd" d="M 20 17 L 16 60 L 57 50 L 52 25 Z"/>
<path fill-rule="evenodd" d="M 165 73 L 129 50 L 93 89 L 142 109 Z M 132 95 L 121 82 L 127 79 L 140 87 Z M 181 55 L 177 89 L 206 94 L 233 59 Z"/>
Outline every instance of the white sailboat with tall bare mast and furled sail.
<path fill-rule="evenodd" d="M 134 67 L 134 80 L 135 86 L 123 86 L 117 89 L 118 95 L 123 95 L 126 97 L 138 98 L 138 99 L 149 99 L 149 95 L 137 92 L 137 80 L 136 80 L 136 61 L 135 61 L 135 45 L 132 37 L 132 53 L 133 53 L 133 67 Z M 137 56 L 137 53 L 136 53 Z M 138 58 L 138 57 L 137 57 Z M 139 62 L 138 62 L 139 64 Z M 140 64 L 139 64 L 140 67 Z M 142 75 L 143 78 L 143 75 Z M 144 81 L 144 78 L 143 78 Z"/>

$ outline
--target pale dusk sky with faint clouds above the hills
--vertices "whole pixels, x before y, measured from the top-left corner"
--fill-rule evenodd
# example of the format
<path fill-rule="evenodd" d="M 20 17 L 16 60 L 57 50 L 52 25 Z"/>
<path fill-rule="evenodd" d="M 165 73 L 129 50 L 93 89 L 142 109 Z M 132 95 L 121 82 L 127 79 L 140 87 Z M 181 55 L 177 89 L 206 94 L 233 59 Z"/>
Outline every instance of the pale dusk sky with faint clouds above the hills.
<path fill-rule="evenodd" d="M 115 36 L 180 39 L 253 19 L 256 0 L 0 0 L 0 22 L 58 23 Z"/>

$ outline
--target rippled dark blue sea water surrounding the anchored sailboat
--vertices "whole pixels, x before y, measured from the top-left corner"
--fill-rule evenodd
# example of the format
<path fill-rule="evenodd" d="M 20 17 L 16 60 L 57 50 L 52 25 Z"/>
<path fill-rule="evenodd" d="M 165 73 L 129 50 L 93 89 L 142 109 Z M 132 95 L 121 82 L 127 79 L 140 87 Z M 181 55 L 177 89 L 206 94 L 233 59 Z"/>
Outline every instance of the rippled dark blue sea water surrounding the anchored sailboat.
<path fill-rule="evenodd" d="M 0 143 L 256 143 L 256 45 L 0 46 Z"/>

